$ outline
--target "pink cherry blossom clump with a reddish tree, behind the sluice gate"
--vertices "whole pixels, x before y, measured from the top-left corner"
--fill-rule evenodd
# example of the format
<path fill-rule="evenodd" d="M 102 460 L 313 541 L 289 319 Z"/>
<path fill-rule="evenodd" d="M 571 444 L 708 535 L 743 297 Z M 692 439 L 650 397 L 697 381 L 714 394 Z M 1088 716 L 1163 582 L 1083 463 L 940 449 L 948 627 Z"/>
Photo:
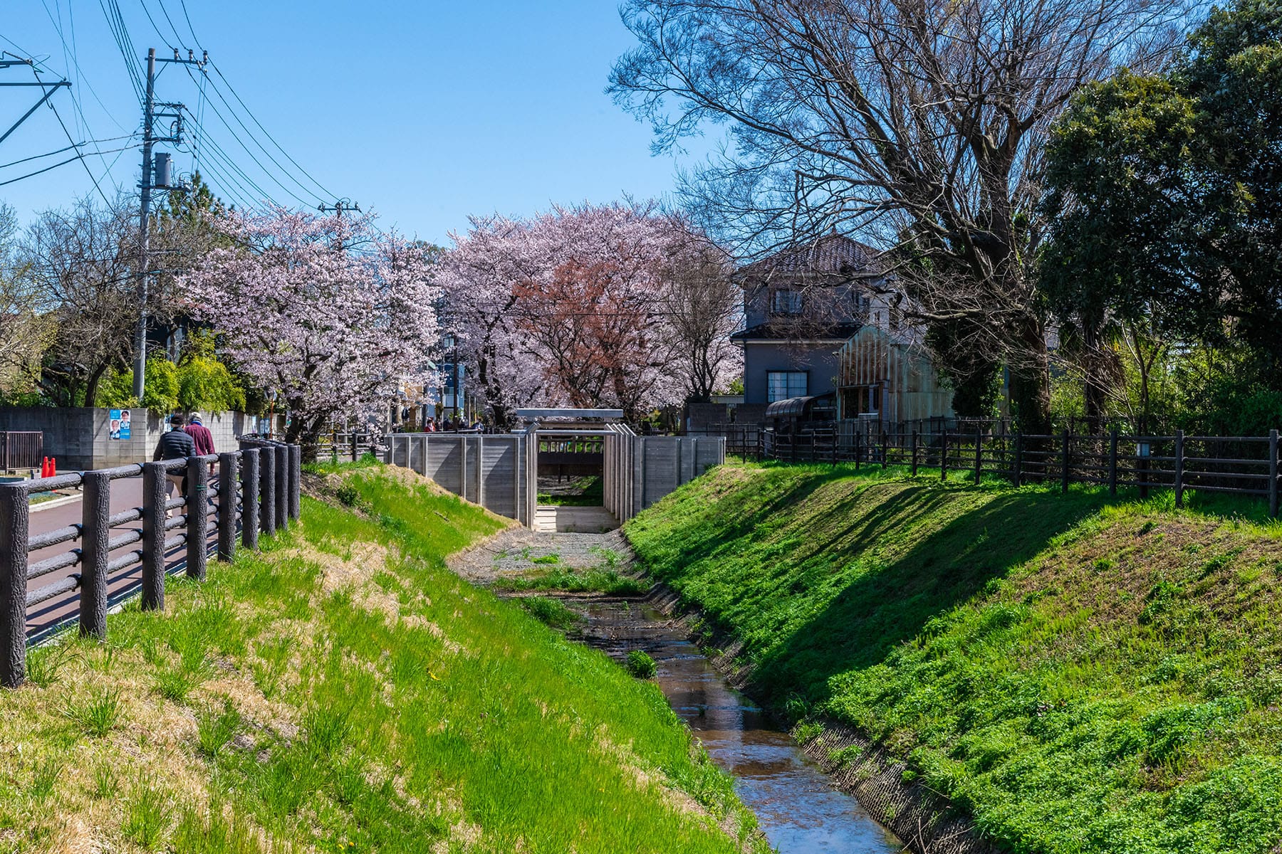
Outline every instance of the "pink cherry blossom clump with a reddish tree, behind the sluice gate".
<path fill-rule="evenodd" d="M 709 302 L 736 310 L 735 298 L 703 298 L 714 284 L 709 273 L 728 270 L 709 265 L 706 238 L 653 204 L 473 219 L 469 233 L 453 239 L 440 278 L 446 311 L 499 423 L 528 403 L 636 416 L 706 394 L 737 367 L 712 341 L 728 334 L 724 316 L 713 321 L 715 333 L 703 333 L 705 343 L 691 335 Z M 728 279 L 715 287 L 724 291 Z M 691 323 L 696 315 L 703 320 Z"/>

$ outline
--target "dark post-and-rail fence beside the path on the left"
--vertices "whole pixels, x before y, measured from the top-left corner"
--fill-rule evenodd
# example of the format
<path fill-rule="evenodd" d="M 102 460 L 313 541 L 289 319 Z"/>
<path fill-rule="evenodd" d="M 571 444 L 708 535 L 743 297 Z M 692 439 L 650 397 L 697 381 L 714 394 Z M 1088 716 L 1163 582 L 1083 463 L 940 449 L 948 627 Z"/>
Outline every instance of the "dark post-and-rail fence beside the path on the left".
<path fill-rule="evenodd" d="M 160 609 L 171 556 L 185 558 L 178 566 L 188 577 L 204 580 L 210 551 L 231 561 L 237 539 L 253 549 L 259 533 L 287 529 L 299 519 L 301 462 L 299 446 L 245 438 L 228 453 L 0 484 L 0 686 L 26 681 L 31 608 L 78 592 L 79 632 L 105 638 L 109 583 L 121 574 L 141 566 L 142 608 Z M 186 494 L 167 497 L 172 474 L 185 475 Z M 141 506 L 113 515 L 112 484 L 126 478 L 142 479 Z M 85 493 L 81 522 L 31 535 L 28 495 L 76 487 Z M 132 522 L 141 526 L 124 528 Z M 28 560 L 58 545 L 68 551 Z M 79 571 L 32 589 L 73 567 Z"/>

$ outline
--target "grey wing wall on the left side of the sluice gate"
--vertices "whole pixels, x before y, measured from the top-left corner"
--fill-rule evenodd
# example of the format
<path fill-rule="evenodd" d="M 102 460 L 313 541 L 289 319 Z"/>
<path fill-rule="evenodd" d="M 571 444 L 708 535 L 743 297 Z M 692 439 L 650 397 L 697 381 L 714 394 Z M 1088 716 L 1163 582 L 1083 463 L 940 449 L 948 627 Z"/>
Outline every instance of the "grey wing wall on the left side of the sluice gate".
<path fill-rule="evenodd" d="M 467 433 L 394 433 L 386 461 L 431 478 L 444 489 L 492 513 L 529 525 L 531 438 Z"/>

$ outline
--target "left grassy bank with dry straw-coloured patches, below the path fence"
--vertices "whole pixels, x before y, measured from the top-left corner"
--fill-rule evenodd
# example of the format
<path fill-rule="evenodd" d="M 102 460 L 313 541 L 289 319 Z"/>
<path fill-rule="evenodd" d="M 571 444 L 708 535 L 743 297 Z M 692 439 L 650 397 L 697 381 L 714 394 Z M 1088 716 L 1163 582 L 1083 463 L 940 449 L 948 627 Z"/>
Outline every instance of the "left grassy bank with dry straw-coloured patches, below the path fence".
<path fill-rule="evenodd" d="M 653 684 L 444 568 L 501 526 L 341 475 L 260 554 L 32 653 L 0 850 L 735 851 L 753 818 Z"/>

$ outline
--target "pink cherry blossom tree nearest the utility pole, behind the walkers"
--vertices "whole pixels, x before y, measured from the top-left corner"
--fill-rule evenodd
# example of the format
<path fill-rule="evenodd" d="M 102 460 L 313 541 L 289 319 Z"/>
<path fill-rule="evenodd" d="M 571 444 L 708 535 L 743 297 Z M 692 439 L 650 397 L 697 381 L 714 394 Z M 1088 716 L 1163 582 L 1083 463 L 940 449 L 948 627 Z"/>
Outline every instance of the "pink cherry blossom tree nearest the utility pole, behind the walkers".
<path fill-rule="evenodd" d="M 404 385 L 435 383 L 429 247 L 377 232 L 369 215 L 231 213 L 219 228 L 233 247 L 179 284 L 226 355 L 288 406 L 286 438 L 306 458 L 331 417 L 386 411 Z"/>

